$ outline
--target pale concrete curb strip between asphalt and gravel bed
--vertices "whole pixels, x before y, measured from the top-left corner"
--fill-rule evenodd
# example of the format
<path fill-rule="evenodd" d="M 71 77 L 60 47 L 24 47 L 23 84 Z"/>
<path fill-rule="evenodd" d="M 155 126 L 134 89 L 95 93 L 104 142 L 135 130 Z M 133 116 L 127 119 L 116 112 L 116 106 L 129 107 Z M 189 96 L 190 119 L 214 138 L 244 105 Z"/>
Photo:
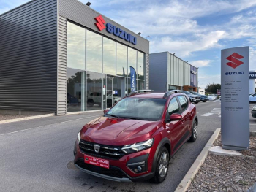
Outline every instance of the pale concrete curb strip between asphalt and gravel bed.
<path fill-rule="evenodd" d="M 219 136 L 220 128 L 217 128 L 214 131 L 214 134 L 211 136 L 211 138 L 206 143 L 206 146 L 203 147 L 203 150 L 198 155 L 197 159 L 195 160 L 194 164 L 190 167 L 189 171 L 181 180 L 181 183 L 178 184 L 178 187 L 176 188 L 175 192 L 185 192 L 187 191 L 187 188 L 189 188 L 189 185 L 191 181 L 194 179 L 195 174 L 197 174 L 198 170 L 200 169 L 200 166 L 202 166 L 203 162 L 206 160 L 206 156 L 208 155 L 208 152 L 213 145 L 215 139 Z"/>

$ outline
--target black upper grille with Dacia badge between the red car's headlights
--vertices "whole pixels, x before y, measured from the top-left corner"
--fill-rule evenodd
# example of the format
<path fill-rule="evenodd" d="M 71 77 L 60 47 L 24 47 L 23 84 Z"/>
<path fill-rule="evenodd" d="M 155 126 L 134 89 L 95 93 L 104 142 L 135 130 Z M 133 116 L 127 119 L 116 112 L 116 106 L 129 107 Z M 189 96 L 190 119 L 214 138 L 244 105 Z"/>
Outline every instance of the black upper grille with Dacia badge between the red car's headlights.
<path fill-rule="evenodd" d="M 93 142 L 87 142 L 85 140 L 80 140 L 79 148 L 83 153 L 88 155 L 92 155 L 98 158 L 106 158 L 106 159 L 113 159 L 118 160 L 119 158 L 126 155 L 121 148 L 123 146 L 114 146 L 114 145 L 100 145 L 99 153 L 94 151 L 94 144 Z M 99 145 L 99 144 L 97 144 Z"/>

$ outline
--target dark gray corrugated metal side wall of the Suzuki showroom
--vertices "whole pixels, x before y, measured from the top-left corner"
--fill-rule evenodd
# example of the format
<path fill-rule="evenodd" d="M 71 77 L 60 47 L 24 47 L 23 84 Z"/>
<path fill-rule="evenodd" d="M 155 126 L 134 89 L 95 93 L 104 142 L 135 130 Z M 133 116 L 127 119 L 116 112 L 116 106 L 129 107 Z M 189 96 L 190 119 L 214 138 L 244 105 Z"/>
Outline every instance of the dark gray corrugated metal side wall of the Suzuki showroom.
<path fill-rule="evenodd" d="M 0 15 L 0 109 L 56 112 L 57 1 Z"/>

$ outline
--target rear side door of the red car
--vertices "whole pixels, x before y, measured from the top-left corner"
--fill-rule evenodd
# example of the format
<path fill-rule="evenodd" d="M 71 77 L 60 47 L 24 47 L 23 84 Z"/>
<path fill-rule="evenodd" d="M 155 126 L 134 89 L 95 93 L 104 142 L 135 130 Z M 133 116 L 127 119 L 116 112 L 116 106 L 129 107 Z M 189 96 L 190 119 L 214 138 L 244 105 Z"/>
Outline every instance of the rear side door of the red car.
<path fill-rule="evenodd" d="M 181 106 L 181 115 L 183 120 L 181 123 L 184 124 L 184 129 L 182 130 L 183 137 L 182 139 L 187 139 L 191 130 L 191 120 L 190 120 L 190 111 L 189 111 L 189 101 L 187 96 L 177 96 L 178 102 Z"/>

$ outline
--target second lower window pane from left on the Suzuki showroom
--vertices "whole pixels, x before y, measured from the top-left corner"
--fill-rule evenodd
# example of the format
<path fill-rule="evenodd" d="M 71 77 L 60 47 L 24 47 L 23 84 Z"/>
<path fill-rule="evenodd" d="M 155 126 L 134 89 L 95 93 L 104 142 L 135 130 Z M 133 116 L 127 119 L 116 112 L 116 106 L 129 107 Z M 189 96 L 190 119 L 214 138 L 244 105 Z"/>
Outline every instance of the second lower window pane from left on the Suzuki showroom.
<path fill-rule="evenodd" d="M 102 74 L 86 72 L 87 110 L 102 109 Z"/>

